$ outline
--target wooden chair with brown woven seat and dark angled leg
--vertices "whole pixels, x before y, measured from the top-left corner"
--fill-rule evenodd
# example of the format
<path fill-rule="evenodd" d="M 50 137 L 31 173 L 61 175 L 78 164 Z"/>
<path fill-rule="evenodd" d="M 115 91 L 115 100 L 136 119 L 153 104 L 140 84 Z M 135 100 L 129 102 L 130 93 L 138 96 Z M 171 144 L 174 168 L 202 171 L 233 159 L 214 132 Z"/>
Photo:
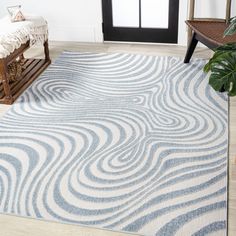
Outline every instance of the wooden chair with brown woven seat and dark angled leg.
<path fill-rule="evenodd" d="M 189 20 L 186 21 L 186 24 L 189 26 L 189 43 L 184 63 L 189 63 L 198 41 L 212 50 L 225 43 L 236 42 L 236 35 L 223 36 L 224 31 L 229 25 L 231 0 L 226 1 L 225 19 L 197 19 L 194 17 L 194 10 L 195 0 L 190 0 Z"/>

